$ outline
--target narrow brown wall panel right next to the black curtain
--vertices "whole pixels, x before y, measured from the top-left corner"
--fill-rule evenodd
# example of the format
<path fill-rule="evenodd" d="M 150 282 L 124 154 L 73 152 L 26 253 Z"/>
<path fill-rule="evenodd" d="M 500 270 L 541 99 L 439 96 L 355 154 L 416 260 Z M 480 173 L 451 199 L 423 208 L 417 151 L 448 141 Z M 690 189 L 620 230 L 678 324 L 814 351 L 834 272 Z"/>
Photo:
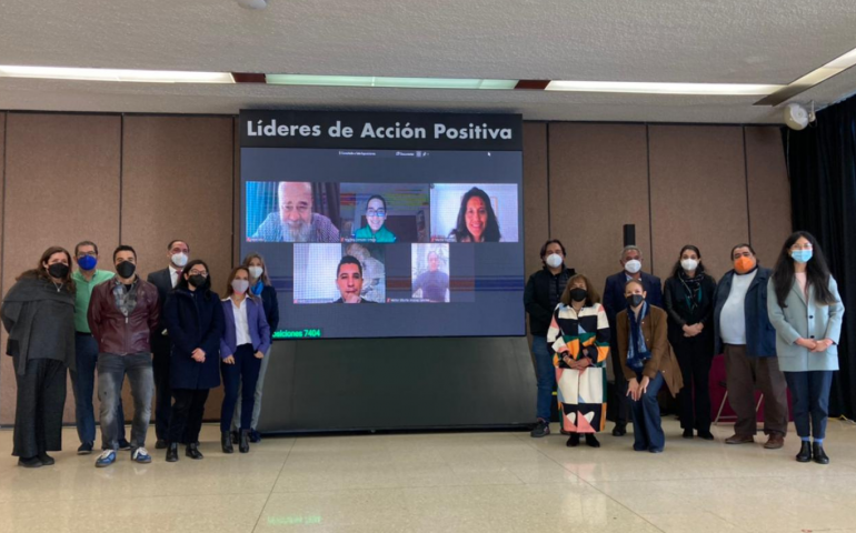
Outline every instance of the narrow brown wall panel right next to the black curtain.
<path fill-rule="evenodd" d="M 773 266 L 792 231 L 790 183 L 776 127 L 746 128 L 752 245 L 763 264 Z"/>

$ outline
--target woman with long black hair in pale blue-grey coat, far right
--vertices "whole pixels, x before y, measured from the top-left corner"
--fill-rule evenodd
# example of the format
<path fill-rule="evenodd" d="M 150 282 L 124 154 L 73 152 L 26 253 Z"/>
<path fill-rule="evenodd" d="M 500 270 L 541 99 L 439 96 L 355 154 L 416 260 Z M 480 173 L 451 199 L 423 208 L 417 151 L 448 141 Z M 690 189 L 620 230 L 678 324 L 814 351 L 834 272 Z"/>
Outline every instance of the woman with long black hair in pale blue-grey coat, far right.
<path fill-rule="evenodd" d="M 794 400 L 794 423 L 803 440 L 796 459 L 829 464 L 824 436 L 833 372 L 838 370 L 844 305 L 810 233 L 797 231 L 787 238 L 767 291 L 776 295 L 767 299 L 767 311 L 776 329 L 779 368 Z"/>

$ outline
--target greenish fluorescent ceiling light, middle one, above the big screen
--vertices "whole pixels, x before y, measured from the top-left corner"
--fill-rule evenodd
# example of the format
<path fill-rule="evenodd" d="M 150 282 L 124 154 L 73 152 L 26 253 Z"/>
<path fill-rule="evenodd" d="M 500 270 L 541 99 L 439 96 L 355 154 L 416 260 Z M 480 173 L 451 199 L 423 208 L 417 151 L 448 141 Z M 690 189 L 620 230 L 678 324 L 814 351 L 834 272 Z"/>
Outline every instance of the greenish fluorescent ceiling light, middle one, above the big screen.
<path fill-rule="evenodd" d="M 273 86 L 386 87 L 398 89 L 494 89 L 507 90 L 517 80 L 468 78 L 390 78 L 382 76 L 267 74 Z"/>

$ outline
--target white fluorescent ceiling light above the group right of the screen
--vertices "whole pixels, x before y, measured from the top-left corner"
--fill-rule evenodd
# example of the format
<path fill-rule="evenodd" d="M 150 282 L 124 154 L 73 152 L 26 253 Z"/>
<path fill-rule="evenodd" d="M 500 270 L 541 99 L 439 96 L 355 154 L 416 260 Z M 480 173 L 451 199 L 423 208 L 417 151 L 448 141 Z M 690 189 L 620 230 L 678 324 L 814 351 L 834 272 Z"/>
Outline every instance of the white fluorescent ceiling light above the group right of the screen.
<path fill-rule="evenodd" d="M 784 86 L 756 83 L 658 83 L 636 81 L 551 81 L 547 91 L 626 94 L 767 95 Z"/>

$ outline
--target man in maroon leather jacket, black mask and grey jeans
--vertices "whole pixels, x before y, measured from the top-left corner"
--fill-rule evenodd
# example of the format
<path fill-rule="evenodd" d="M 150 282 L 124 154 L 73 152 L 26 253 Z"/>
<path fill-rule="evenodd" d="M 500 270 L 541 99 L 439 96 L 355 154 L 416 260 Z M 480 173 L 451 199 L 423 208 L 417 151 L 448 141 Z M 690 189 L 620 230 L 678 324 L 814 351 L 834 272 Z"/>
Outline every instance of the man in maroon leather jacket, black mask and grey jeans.
<path fill-rule="evenodd" d="M 155 378 L 151 370 L 149 335 L 158 325 L 158 289 L 137 275 L 137 252 L 120 245 L 113 252 L 116 278 L 92 290 L 87 315 L 98 341 L 98 398 L 103 453 L 96 466 L 109 466 L 119 449 L 117 406 L 125 375 L 131 384 L 135 413 L 131 426 L 131 460 L 150 463 L 146 432 L 151 418 Z"/>

